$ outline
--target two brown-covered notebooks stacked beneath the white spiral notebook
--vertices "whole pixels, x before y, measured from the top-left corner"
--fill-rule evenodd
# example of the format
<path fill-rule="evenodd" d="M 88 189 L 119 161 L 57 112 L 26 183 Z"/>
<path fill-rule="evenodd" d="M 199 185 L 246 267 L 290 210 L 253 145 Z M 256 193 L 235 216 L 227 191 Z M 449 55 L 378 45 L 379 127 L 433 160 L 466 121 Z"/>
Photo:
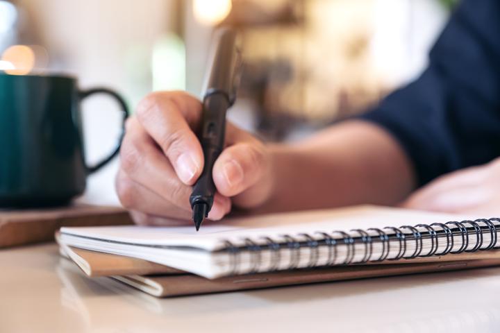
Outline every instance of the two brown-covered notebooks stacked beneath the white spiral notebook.
<path fill-rule="evenodd" d="M 351 266 L 258 273 L 210 280 L 198 275 L 185 274 L 174 268 L 141 259 L 96 253 L 69 246 L 61 246 L 60 252 L 61 255 L 73 259 L 77 266 L 82 268 L 87 275 L 92 277 L 111 276 L 119 282 L 156 297 L 188 296 L 201 293 L 219 293 L 317 282 L 334 282 L 500 266 L 499 251 L 495 250 L 443 257 L 436 256 L 412 260 L 387 261 L 383 264 L 356 264 Z M 469 259 L 465 259 L 466 257 Z"/>

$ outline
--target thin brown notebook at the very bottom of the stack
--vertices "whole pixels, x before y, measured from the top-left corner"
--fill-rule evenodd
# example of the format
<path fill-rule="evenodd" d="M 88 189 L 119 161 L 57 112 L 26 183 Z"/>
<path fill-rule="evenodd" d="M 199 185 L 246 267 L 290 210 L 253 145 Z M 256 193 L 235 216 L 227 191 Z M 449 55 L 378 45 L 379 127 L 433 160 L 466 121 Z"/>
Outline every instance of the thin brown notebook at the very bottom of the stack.
<path fill-rule="evenodd" d="M 115 276 L 115 280 L 156 297 L 188 296 L 249 289 L 285 287 L 319 282 L 335 282 L 394 275 L 456 271 L 479 267 L 500 266 L 500 259 L 426 262 L 419 264 L 374 264 L 336 266 L 310 270 L 259 273 L 210 280 L 197 275 Z"/>

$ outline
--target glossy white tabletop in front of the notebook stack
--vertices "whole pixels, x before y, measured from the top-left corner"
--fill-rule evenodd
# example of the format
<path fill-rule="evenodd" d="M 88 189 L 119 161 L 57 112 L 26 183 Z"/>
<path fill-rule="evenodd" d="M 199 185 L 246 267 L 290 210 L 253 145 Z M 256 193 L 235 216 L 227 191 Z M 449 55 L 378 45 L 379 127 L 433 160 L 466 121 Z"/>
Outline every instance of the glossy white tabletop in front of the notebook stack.
<path fill-rule="evenodd" d="M 500 332 L 500 268 L 158 299 L 0 250 L 0 332 Z"/>

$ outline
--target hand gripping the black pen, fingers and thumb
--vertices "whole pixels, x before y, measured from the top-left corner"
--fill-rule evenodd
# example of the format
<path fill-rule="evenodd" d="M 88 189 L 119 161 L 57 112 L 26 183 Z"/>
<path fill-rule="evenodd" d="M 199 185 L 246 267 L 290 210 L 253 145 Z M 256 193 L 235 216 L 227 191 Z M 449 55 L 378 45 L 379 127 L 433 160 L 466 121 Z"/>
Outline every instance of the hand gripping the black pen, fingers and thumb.
<path fill-rule="evenodd" d="M 203 170 L 195 135 L 200 119 L 201 103 L 185 92 L 150 94 L 128 119 L 116 188 L 137 223 L 190 219 L 189 196 Z M 222 219 L 232 204 L 256 207 L 269 197 L 269 155 L 258 139 L 227 123 L 226 148 L 213 169 L 217 194 L 209 219 Z"/>

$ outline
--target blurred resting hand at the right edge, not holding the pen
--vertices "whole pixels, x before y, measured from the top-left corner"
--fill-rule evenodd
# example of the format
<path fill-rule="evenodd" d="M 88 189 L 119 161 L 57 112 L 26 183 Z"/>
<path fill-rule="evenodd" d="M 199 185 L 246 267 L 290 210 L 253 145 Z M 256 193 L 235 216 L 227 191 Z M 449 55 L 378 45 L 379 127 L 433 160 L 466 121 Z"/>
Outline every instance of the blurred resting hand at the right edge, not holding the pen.
<path fill-rule="evenodd" d="M 437 178 L 412 194 L 403 207 L 499 217 L 500 158 Z"/>

